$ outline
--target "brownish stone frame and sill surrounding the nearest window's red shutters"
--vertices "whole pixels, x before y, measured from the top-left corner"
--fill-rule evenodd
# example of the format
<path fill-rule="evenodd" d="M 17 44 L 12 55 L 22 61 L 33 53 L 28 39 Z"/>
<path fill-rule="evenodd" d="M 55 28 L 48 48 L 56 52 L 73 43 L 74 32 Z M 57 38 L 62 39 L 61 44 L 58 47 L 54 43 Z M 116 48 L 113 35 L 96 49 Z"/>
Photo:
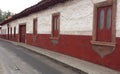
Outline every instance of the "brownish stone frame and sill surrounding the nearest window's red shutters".
<path fill-rule="evenodd" d="M 112 31 L 111 31 L 111 41 L 97 41 L 97 24 L 98 24 L 98 8 L 112 6 Z M 115 46 L 116 45 L 116 10 L 117 10 L 117 0 L 107 0 L 104 2 L 94 4 L 94 17 L 93 17 L 93 36 L 92 36 L 92 44 L 95 45 L 107 45 L 107 46 Z"/>

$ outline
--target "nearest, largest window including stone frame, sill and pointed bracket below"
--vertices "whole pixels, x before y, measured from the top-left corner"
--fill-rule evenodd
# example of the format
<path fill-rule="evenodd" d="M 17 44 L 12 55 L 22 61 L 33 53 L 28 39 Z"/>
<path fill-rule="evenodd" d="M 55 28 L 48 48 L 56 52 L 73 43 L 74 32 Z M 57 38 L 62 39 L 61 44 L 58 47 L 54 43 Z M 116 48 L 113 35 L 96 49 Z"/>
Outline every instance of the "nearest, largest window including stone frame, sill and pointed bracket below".
<path fill-rule="evenodd" d="M 116 47 L 117 0 L 94 4 L 92 48 L 101 57 L 111 54 Z"/>

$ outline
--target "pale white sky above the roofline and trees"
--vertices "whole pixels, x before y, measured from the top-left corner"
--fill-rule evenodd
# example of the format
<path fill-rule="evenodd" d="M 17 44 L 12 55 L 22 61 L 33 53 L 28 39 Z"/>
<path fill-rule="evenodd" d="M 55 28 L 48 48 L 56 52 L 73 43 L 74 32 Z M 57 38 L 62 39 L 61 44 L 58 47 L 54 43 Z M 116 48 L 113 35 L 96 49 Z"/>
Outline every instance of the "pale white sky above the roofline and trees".
<path fill-rule="evenodd" d="M 0 9 L 2 11 L 10 11 L 19 13 L 22 10 L 37 4 L 41 0 L 0 0 Z"/>

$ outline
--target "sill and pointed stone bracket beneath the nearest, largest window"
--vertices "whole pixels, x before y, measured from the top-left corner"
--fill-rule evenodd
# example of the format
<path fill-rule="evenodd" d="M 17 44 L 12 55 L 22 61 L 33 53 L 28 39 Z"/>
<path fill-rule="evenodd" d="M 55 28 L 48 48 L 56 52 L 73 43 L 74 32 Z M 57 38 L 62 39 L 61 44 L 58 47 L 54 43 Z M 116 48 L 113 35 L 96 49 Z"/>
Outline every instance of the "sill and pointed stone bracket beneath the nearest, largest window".
<path fill-rule="evenodd" d="M 92 49 L 102 58 L 112 54 L 116 47 L 116 43 L 114 42 L 91 41 L 91 44 Z"/>

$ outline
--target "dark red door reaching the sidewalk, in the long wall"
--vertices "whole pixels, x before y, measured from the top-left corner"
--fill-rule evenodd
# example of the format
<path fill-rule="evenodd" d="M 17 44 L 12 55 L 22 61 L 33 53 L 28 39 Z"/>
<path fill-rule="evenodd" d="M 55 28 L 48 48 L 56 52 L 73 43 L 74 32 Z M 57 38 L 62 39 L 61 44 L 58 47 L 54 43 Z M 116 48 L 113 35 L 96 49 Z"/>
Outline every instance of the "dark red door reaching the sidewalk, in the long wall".
<path fill-rule="evenodd" d="M 26 25 L 19 26 L 20 42 L 25 43 Z"/>

